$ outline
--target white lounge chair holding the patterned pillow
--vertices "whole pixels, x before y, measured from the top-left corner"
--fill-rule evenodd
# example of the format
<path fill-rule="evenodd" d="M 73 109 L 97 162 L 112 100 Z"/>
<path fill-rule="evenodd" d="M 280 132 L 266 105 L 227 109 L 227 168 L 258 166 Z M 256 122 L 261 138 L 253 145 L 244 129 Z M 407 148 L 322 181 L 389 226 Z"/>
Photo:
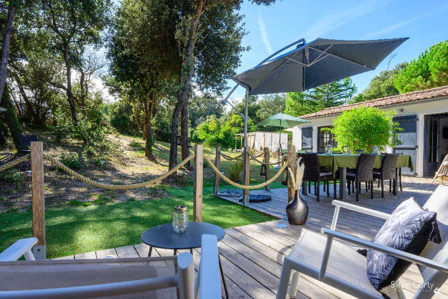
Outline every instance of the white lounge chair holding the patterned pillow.
<path fill-rule="evenodd" d="M 424 209 L 437 212 L 442 243 L 429 242 L 420 256 L 378 245 L 357 237 L 335 231 L 340 208 L 388 219 L 389 214 L 356 206 L 342 201 L 333 201 L 336 206 L 331 229 L 322 228 L 321 234 L 302 229 L 299 241 L 291 253 L 285 257 L 280 276 L 277 299 L 285 299 L 288 284 L 289 296 L 295 296 L 300 274 L 318 279 L 338 290 L 356 298 L 384 299 L 381 293 L 392 299 L 406 298 L 399 282 L 395 286 L 383 288 L 378 292 L 367 278 L 366 258 L 356 252 L 355 247 L 348 246 L 333 239 L 354 244 L 354 246 L 371 248 L 417 264 L 424 283 L 433 285 L 431 290 L 419 288 L 413 299 L 432 298 L 448 279 L 448 186 L 440 185 L 433 193 Z"/>

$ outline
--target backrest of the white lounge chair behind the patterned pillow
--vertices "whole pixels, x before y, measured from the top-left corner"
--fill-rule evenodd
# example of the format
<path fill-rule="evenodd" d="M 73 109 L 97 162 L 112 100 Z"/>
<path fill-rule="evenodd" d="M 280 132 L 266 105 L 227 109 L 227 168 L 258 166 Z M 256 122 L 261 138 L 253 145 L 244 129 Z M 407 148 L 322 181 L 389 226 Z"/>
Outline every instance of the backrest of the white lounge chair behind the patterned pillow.
<path fill-rule="evenodd" d="M 439 185 L 425 203 L 423 209 L 437 213 L 437 223 L 442 242 L 436 244 L 429 241 L 420 256 L 448 264 L 448 186 Z M 440 288 L 448 279 L 448 274 L 446 273 L 422 265 L 417 266 L 424 281 L 434 284 L 434 288 Z M 432 291 L 434 291 L 434 288 Z M 427 295 L 425 292 L 422 292 L 422 294 L 416 293 L 414 298 L 427 298 L 425 295 Z"/>

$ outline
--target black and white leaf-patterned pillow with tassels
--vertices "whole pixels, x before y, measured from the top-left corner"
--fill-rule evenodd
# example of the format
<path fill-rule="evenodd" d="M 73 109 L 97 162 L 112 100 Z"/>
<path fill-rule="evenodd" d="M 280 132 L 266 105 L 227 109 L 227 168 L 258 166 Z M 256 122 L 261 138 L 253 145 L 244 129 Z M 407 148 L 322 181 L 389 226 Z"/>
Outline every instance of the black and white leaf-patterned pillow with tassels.
<path fill-rule="evenodd" d="M 423 210 L 414 197 L 411 197 L 395 209 L 373 242 L 420 255 L 428 243 L 436 216 L 435 212 Z M 377 290 L 390 286 L 411 264 L 379 251 L 367 251 L 367 277 Z"/>

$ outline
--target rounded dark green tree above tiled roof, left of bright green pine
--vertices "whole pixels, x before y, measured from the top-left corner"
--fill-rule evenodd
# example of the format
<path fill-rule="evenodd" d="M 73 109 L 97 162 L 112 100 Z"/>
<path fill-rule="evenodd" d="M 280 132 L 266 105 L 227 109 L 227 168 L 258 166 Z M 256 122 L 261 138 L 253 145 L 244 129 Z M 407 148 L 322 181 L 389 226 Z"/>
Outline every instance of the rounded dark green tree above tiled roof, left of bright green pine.
<path fill-rule="evenodd" d="M 349 104 L 370 101 L 400 94 L 398 89 L 395 87 L 395 78 L 400 71 L 406 69 L 407 65 L 407 62 L 402 62 L 400 64 L 397 64 L 391 70 L 387 69 L 381 71 L 378 76 L 373 77 L 366 89 L 353 97 Z"/>

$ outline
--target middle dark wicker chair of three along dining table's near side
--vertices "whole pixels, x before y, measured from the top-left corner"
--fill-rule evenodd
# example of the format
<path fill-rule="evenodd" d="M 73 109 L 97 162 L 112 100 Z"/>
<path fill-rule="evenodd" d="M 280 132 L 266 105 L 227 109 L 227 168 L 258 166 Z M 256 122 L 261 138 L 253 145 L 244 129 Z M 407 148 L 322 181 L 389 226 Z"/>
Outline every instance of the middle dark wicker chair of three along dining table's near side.
<path fill-rule="evenodd" d="M 375 159 L 376 154 L 361 153 L 356 168 L 347 169 L 348 194 L 350 194 L 350 182 L 354 181 L 356 186 L 356 201 L 359 201 L 362 182 L 369 182 L 373 186 L 373 164 L 375 163 Z M 370 188 L 370 197 L 373 199 L 373 188 Z"/>

